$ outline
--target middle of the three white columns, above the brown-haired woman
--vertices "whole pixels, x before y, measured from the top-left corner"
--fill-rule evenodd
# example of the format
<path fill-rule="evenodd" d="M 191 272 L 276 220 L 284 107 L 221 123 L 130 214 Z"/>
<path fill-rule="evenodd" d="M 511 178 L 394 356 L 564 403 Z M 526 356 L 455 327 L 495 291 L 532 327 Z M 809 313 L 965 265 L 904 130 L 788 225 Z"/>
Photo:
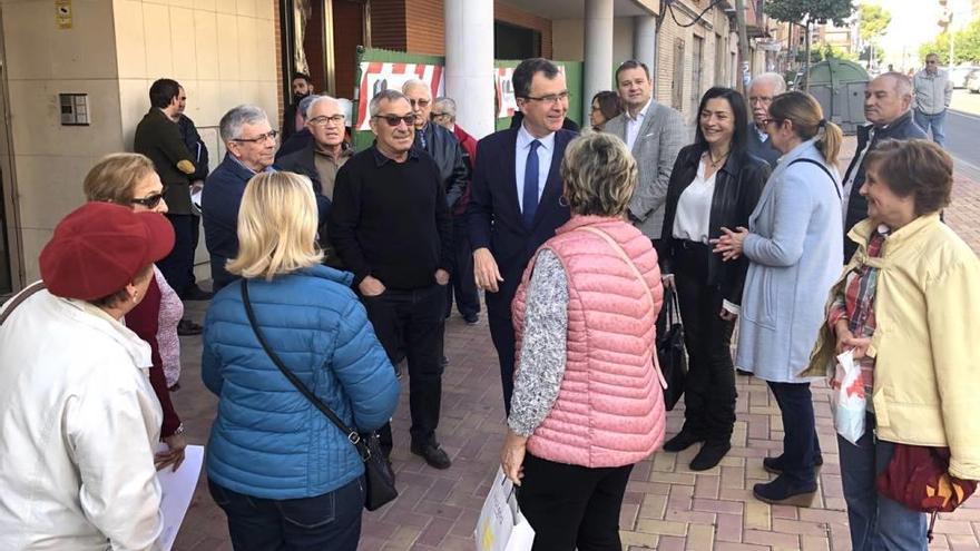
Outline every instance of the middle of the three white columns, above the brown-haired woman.
<path fill-rule="evenodd" d="M 589 124 L 592 96 L 612 86 L 612 0 L 586 0 L 585 35 L 582 126 Z"/>

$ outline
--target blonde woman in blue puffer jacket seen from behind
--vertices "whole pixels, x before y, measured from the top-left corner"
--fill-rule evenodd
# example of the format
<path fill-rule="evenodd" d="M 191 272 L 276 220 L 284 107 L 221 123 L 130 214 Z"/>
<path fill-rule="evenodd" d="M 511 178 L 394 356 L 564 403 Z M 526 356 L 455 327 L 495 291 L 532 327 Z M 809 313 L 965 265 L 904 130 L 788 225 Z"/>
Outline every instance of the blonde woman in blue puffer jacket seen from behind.
<path fill-rule="evenodd" d="M 398 381 L 351 291 L 352 275 L 320 264 L 316 220 L 307 178 L 255 176 L 227 268 L 248 281 L 259 328 L 283 363 L 347 425 L 372 431 L 394 412 Z M 204 325 L 202 377 L 219 396 L 206 462 L 212 496 L 238 551 L 353 551 L 364 465 L 262 348 L 241 285 L 215 295 Z"/>

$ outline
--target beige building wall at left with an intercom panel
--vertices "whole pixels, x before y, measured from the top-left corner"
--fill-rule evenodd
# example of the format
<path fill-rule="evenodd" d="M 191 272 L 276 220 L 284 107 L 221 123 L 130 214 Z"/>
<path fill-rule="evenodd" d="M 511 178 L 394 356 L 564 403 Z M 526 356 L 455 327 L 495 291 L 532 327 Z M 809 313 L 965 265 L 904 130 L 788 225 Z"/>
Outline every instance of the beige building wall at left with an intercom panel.
<path fill-rule="evenodd" d="M 184 86 L 213 166 L 224 154 L 216 127 L 228 108 L 277 111 L 272 1 L 74 0 L 72 8 L 72 28 L 59 29 L 52 2 L 0 0 L 13 151 L 3 186 L 16 190 L 27 282 L 38 277 L 55 225 L 81 204 L 88 169 L 131 150 L 153 80 Z M 88 94 L 91 126 L 60 126 L 59 92 Z M 203 238 L 198 262 L 202 253 Z"/>

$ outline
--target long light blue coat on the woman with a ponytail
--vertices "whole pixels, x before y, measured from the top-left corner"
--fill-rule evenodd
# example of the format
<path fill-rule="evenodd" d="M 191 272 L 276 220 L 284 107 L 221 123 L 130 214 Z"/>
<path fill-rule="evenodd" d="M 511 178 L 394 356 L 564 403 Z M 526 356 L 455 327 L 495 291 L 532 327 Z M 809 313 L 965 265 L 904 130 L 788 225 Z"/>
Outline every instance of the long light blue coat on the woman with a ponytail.
<path fill-rule="evenodd" d="M 780 159 L 748 218 L 749 259 L 742 296 L 735 365 L 764 381 L 803 382 L 796 374 L 824 323 L 826 296 L 843 265 L 841 184 L 814 141 Z"/>

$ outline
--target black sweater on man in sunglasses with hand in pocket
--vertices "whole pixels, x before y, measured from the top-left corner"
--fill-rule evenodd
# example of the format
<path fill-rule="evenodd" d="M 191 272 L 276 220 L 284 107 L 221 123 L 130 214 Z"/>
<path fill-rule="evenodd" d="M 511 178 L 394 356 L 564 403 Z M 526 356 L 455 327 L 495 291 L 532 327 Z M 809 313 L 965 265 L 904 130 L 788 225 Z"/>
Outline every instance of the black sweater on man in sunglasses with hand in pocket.
<path fill-rule="evenodd" d="M 435 283 L 449 272 L 452 218 L 439 167 L 424 151 L 395 163 L 372 146 L 337 173 L 327 235 L 354 283 L 366 276 L 392 289 Z"/>

